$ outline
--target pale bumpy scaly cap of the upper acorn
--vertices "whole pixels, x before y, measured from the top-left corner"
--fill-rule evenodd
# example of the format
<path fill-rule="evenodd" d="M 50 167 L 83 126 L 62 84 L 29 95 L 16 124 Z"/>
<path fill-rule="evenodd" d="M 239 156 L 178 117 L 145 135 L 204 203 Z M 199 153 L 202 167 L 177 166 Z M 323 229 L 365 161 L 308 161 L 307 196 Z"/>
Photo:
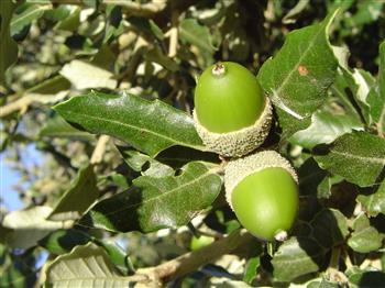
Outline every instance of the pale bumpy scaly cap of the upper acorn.
<path fill-rule="evenodd" d="M 272 124 L 272 102 L 268 97 L 265 99 L 265 108 L 253 125 L 228 133 L 208 131 L 199 123 L 194 110 L 195 126 L 205 145 L 212 152 L 227 157 L 240 157 L 258 147 L 267 137 Z"/>

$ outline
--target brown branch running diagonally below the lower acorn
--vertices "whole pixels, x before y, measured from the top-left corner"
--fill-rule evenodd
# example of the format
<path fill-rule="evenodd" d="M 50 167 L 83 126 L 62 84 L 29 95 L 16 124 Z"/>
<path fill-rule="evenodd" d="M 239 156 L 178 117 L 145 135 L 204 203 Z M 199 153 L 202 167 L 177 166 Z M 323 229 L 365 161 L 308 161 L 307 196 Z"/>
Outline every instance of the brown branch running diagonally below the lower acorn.
<path fill-rule="evenodd" d="M 139 269 L 136 274 L 146 275 L 147 281 L 141 281 L 138 287 L 161 287 L 165 283 L 189 274 L 224 254 L 250 244 L 254 240 L 246 230 L 238 230 L 198 251 L 184 254 L 155 267 Z"/>

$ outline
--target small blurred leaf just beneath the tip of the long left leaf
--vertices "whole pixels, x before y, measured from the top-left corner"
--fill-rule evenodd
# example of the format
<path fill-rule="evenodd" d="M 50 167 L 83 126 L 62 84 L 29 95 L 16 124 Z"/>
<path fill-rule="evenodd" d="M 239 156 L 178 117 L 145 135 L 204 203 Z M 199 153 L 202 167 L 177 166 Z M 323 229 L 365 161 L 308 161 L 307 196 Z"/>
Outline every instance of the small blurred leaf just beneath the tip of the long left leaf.
<path fill-rule="evenodd" d="M 92 141 L 95 136 L 75 129 L 69 125 L 63 118 L 55 115 L 48 119 L 43 128 L 38 132 L 41 137 L 63 137 L 63 139 L 74 139 L 74 140 L 85 140 Z"/>

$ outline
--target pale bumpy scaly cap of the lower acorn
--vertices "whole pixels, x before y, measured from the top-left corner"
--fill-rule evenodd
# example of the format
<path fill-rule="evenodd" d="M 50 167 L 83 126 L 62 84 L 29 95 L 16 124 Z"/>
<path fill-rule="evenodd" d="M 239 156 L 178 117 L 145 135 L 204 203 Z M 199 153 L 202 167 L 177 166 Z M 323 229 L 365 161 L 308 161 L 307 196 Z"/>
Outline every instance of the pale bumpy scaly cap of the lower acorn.
<path fill-rule="evenodd" d="M 265 168 L 280 167 L 287 170 L 298 184 L 298 176 L 292 164 L 275 151 L 262 151 L 256 154 L 229 162 L 224 169 L 226 199 L 233 210 L 231 192 L 245 177 Z"/>

